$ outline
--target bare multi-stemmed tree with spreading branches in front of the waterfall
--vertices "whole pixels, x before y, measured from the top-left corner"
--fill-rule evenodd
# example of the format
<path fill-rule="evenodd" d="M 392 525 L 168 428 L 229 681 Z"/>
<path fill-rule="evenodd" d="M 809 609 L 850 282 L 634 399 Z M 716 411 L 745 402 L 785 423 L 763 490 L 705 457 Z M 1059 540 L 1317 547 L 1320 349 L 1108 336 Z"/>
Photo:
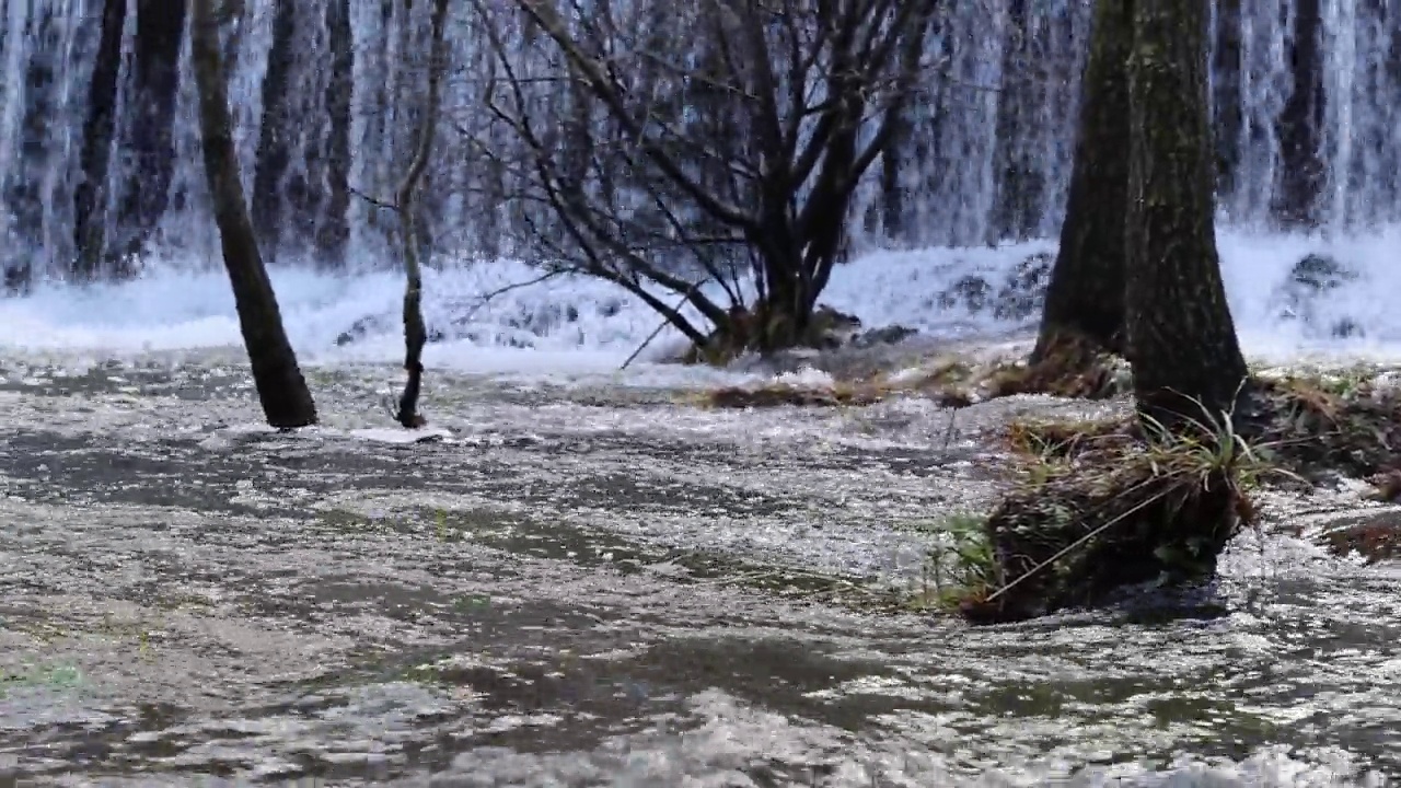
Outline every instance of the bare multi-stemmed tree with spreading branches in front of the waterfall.
<path fill-rule="evenodd" d="M 486 153 L 549 265 L 621 285 L 698 348 L 806 344 L 936 6 L 474 0 L 497 66 L 485 105 L 524 149 Z"/>

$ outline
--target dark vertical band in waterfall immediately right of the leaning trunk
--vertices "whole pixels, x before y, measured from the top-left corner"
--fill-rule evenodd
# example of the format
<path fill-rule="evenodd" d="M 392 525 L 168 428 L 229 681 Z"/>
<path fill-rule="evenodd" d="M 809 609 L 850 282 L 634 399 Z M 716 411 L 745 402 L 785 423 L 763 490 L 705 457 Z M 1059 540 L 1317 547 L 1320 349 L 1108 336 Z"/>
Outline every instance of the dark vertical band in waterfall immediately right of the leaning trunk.
<path fill-rule="evenodd" d="M 287 91 L 291 87 L 296 34 L 296 0 L 275 0 L 272 48 L 268 50 L 268 70 L 262 84 L 262 122 L 258 126 L 252 203 L 254 230 L 269 259 L 277 255 L 282 245 L 282 188 L 291 165 L 293 129 L 287 118 Z"/>

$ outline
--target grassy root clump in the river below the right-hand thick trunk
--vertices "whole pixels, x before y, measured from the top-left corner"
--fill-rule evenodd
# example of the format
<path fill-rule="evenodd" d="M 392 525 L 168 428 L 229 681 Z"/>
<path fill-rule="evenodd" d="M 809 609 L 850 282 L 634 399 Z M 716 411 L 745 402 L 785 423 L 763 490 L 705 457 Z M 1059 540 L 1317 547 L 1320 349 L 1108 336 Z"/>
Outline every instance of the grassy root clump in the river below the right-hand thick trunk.
<path fill-rule="evenodd" d="M 974 623 L 1031 618 L 1124 585 L 1209 576 L 1226 543 L 1254 522 L 1247 491 L 1272 468 L 1229 418 L 1196 428 L 1150 423 L 1139 440 L 1066 429 L 1072 439 L 1037 454 L 988 517 L 995 582 L 968 593 L 960 613 Z"/>

